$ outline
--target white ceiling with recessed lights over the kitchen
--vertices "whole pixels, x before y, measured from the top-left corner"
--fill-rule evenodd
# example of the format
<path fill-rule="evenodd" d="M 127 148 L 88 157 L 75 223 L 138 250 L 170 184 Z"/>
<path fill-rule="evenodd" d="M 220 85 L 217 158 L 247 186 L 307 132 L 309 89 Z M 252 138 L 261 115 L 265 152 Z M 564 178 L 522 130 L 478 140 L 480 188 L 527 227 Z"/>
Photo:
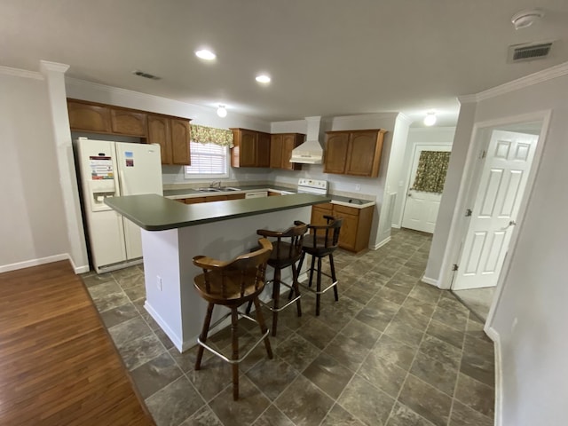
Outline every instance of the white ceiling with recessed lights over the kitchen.
<path fill-rule="evenodd" d="M 534 7 L 545 17 L 515 30 L 512 15 Z M 510 44 L 544 40 L 548 59 L 507 63 Z M 202 46 L 214 63 L 194 56 Z M 568 0 L 0 0 L 0 65 L 40 59 L 269 122 L 434 109 L 454 125 L 457 96 L 568 61 Z"/>

